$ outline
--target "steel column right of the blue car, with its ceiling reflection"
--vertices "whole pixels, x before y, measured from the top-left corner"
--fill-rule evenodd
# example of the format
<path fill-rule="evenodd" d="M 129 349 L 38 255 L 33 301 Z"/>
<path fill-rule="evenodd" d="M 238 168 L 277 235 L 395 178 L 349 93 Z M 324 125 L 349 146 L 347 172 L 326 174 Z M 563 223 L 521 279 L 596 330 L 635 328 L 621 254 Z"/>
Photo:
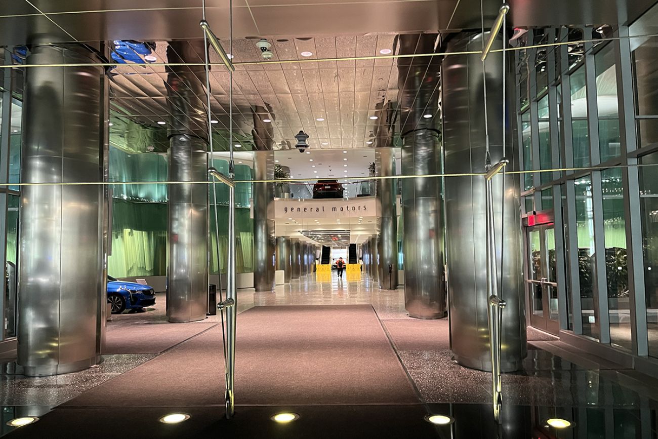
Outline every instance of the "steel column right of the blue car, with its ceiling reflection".
<path fill-rule="evenodd" d="M 203 59 L 203 41 L 171 41 L 170 63 Z M 168 66 L 169 180 L 207 180 L 206 112 L 202 66 Z M 208 186 L 168 186 L 169 265 L 166 315 L 170 322 L 203 320 L 208 295 Z"/>

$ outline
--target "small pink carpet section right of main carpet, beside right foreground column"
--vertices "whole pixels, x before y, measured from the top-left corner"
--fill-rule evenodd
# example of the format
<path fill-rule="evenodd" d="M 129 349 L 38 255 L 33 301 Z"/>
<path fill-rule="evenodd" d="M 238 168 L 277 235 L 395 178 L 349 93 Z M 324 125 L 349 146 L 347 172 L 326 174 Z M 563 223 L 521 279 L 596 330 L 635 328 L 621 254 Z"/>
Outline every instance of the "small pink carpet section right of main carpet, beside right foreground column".
<path fill-rule="evenodd" d="M 400 319 L 383 321 L 397 349 L 437 351 L 450 349 L 448 319 Z"/>

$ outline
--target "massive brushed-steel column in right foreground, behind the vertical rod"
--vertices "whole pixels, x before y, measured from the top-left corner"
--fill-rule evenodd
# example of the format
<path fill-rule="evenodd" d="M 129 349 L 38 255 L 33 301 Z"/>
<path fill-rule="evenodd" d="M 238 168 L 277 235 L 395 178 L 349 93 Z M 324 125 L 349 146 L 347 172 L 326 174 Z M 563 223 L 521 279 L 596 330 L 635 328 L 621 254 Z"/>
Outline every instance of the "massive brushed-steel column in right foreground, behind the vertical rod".
<path fill-rule="evenodd" d="M 501 47 L 497 41 L 494 48 Z M 447 51 L 482 49 L 479 34 L 453 37 Z M 513 59 L 513 57 L 508 57 Z M 487 105 L 492 163 L 503 157 L 502 63 L 501 56 L 486 59 Z M 507 108 L 515 102 L 514 74 L 509 68 Z M 483 172 L 485 163 L 484 95 L 482 61 L 479 55 L 450 55 L 443 60 L 443 145 L 447 173 Z M 510 114 L 513 114 L 510 112 Z M 514 120 L 512 117 L 511 120 Z M 517 149 L 513 147 L 513 123 L 508 123 L 505 157 L 507 170 L 519 169 Z M 526 355 L 526 328 L 522 288 L 521 230 L 519 220 L 519 176 L 493 181 L 493 206 L 497 259 L 503 258 L 502 288 L 499 296 L 507 302 L 502 317 L 501 369 L 515 371 Z M 450 295 L 451 348 L 455 359 L 467 367 L 491 370 L 486 291 L 485 180 L 482 176 L 446 177 L 445 209 L 447 266 Z M 501 209 L 505 207 L 505 226 L 501 230 Z M 406 218 L 405 218 L 406 220 Z M 503 241 L 501 242 L 501 232 Z"/>

